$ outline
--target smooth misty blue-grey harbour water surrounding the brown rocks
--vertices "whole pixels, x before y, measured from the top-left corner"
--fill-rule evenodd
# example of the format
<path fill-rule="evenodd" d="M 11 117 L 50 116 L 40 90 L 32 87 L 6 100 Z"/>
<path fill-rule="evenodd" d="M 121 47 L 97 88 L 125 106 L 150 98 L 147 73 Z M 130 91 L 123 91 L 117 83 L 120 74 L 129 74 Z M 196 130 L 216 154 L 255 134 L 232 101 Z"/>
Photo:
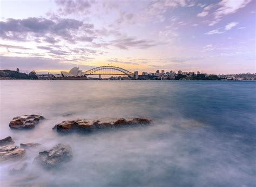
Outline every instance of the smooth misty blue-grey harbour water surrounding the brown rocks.
<path fill-rule="evenodd" d="M 57 170 L 32 164 L 0 186 L 255 186 L 256 82 L 1 81 L 1 136 L 15 143 L 70 144 Z M 46 117 L 33 130 L 9 129 L 12 117 Z M 66 116 L 68 115 L 68 116 Z M 149 127 L 58 135 L 72 118 L 151 117 Z"/>

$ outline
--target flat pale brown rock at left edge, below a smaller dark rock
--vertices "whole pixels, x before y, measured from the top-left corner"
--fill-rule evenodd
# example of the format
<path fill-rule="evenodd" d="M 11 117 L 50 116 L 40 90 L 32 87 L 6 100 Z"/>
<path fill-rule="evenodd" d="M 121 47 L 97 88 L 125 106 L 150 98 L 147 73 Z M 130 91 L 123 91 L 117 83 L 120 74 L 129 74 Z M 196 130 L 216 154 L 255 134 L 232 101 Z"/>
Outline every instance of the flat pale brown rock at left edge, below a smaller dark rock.
<path fill-rule="evenodd" d="M 20 159 L 25 156 L 25 149 L 18 146 L 2 146 L 0 147 L 0 161 L 9 161 Z"/>

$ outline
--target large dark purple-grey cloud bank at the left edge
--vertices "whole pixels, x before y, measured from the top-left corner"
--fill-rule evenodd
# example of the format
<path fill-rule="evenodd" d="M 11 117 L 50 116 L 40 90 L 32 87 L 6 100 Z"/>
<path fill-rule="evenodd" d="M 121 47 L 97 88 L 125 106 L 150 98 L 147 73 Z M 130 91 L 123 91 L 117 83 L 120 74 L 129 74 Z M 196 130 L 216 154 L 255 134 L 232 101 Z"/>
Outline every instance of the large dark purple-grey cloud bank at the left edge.
<path fill-rule="evenodd" d="M 80 29 L 92 29 L 92 24 L 86 24 L 76 19 L 36 18 L 26 19 L 9 18 L 0 22 L 0 37 L 8 40 L 29 41 L 43 38 L 44 41 L 54 44 L 58 42 L 56 37 L 75 43 Z"/>

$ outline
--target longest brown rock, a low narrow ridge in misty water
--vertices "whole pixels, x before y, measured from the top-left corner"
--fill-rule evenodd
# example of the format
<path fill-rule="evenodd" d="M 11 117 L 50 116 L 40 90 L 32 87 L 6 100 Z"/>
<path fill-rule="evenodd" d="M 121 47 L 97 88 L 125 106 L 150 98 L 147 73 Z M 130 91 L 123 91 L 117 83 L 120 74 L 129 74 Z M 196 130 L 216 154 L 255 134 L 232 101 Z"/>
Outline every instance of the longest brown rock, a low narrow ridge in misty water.
<path fill-rule="evenodd" d="M 146 118 L 134 118 L 134 119 L 117 119 L 110 121 L 88 121 L 88 120 L 66 120 L 61 123 L 56 124 L 52 129 L 56 129 L 61 133 L 70 133 L 72 131 L 79 132 L 91 132 L 97 129 L 109 129 L 124 126 L 133 126 L 138 124 L 149 124 L 150 119 Z"/>

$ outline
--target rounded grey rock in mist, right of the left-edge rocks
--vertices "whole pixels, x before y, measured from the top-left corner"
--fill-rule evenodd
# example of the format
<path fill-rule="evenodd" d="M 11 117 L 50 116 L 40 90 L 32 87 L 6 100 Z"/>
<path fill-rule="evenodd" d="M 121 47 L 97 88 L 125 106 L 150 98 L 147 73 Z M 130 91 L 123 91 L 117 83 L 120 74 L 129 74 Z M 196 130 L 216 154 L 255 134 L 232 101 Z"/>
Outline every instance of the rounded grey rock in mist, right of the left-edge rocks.
<path fill-rule="evenodd" d="M 35 162 L 41 164 L 46 169 L 55 168 L 63 162 L 72 158 L 71 147 L 64 144 L 57 144 L 49 151 L 42 151 L 35 158 Z"/>

